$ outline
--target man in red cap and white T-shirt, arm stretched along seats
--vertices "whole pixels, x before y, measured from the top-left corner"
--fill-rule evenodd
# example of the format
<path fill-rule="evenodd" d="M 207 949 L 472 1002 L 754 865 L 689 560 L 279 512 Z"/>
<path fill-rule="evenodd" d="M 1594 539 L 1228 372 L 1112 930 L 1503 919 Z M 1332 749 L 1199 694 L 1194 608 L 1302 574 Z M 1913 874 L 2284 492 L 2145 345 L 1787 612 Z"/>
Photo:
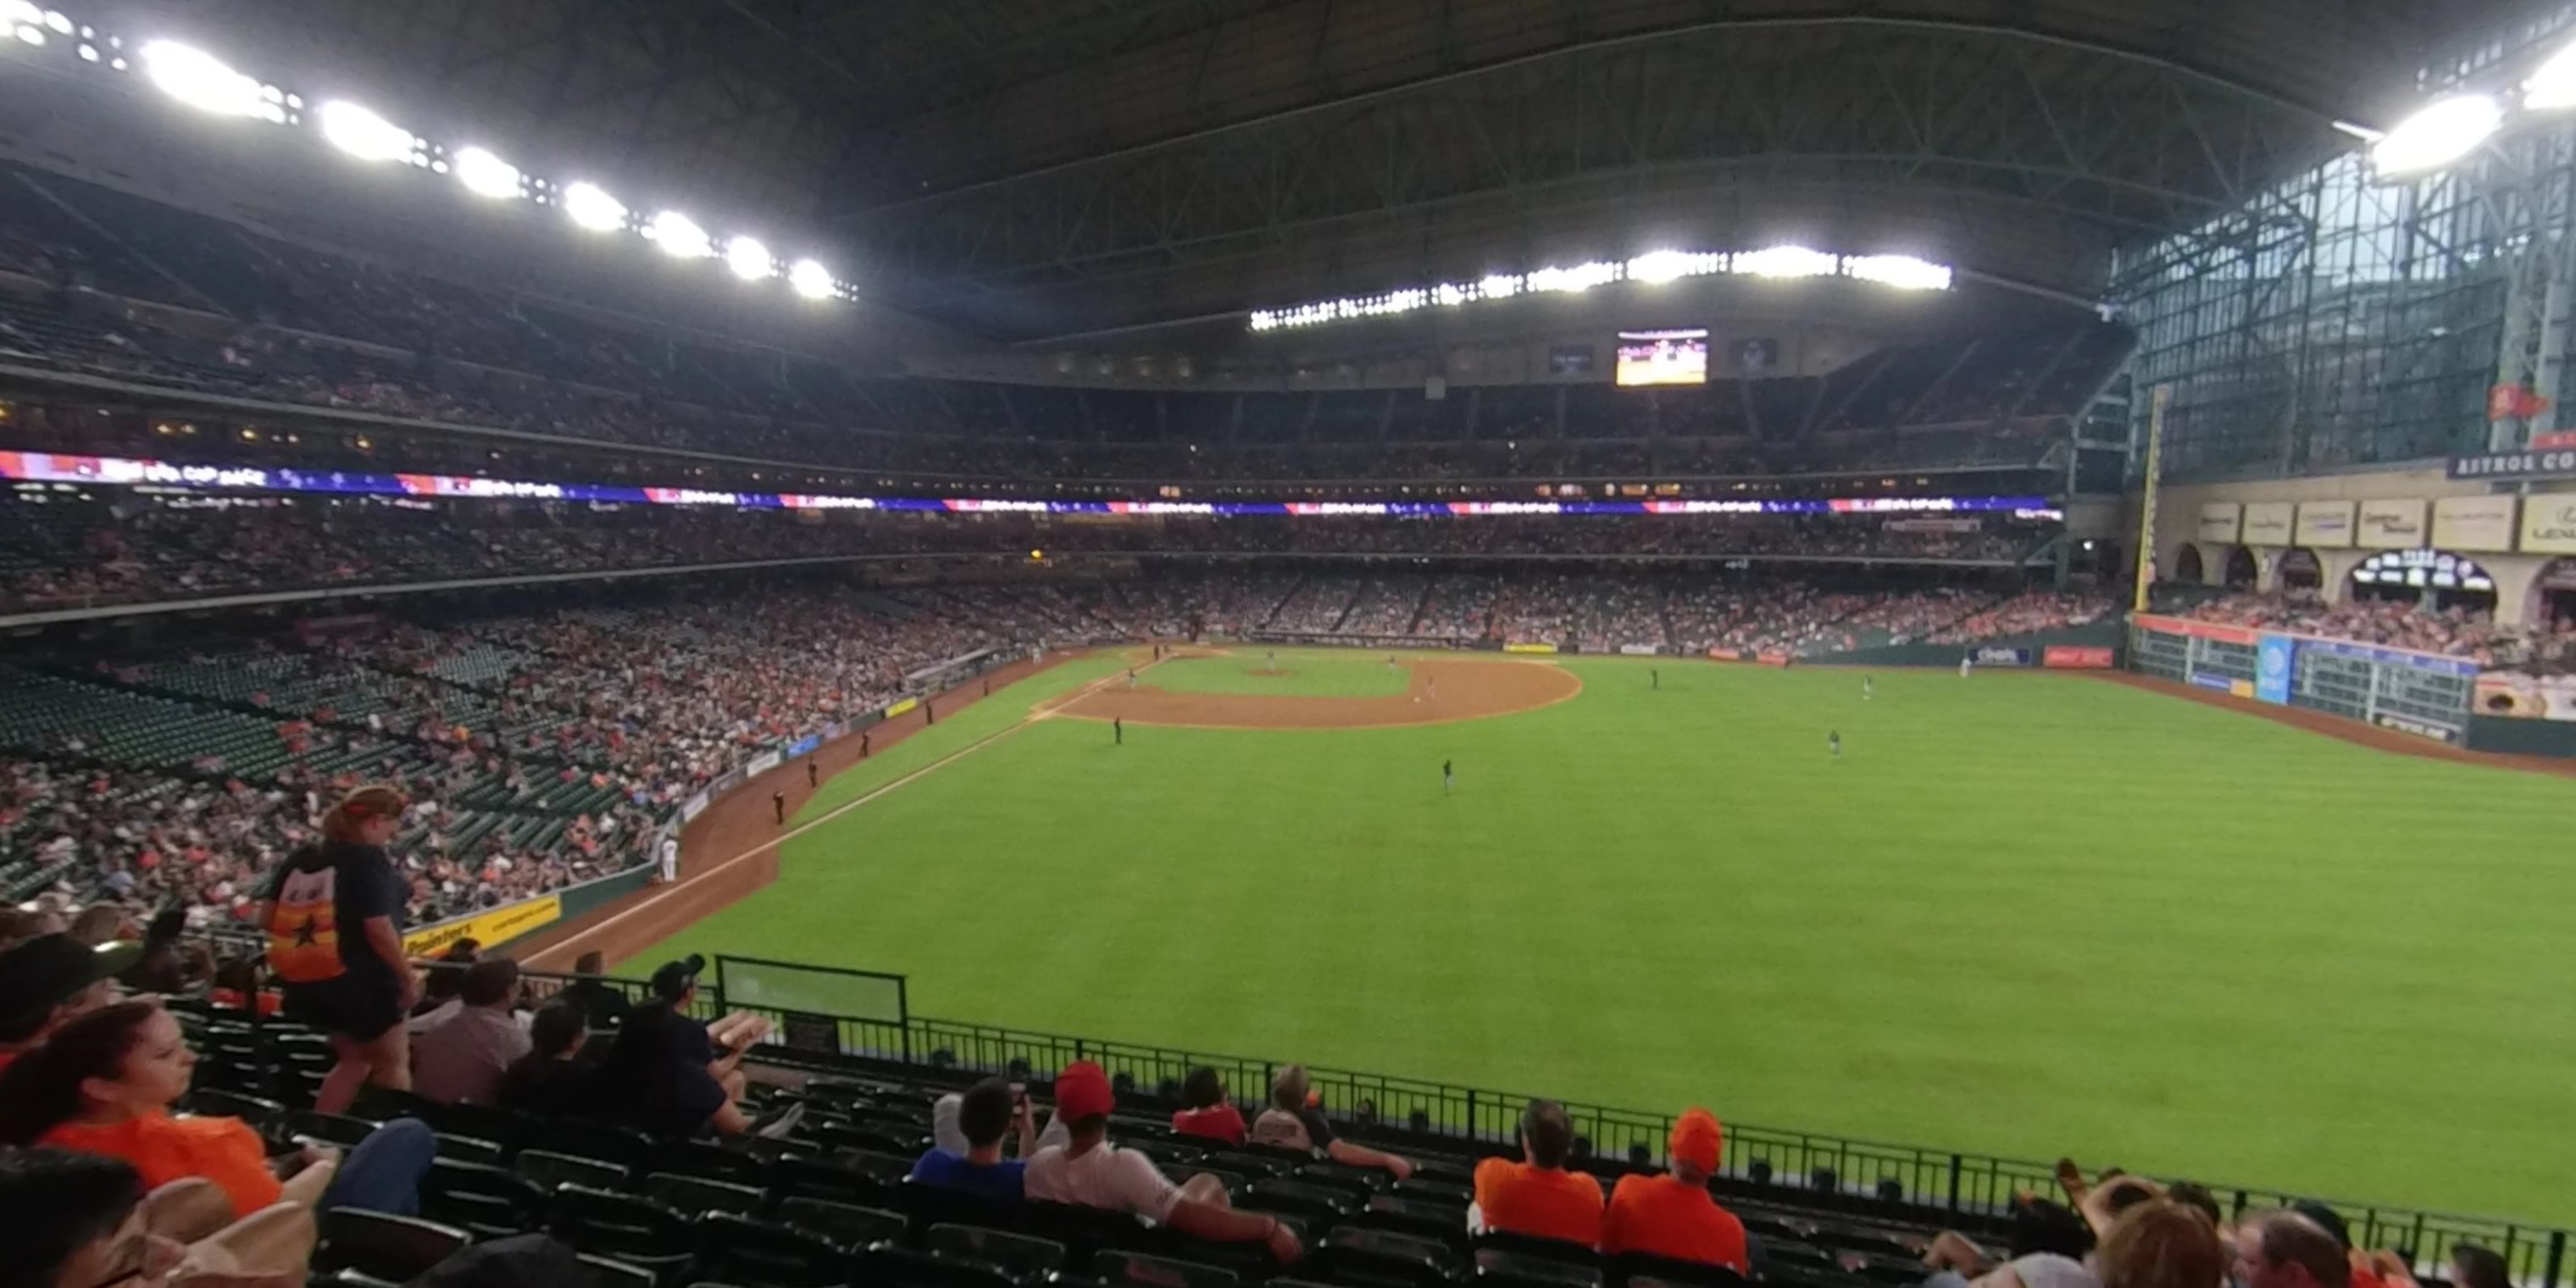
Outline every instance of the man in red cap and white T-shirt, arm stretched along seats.
<path fill-rule="evenodd" d="M 1229 1208 L 1226 1188 L 1216 1177 L 1195 1175 L 1185 1185 L 1172 1185 L 1154 1159 L 1113 1146 L 1115 1105 L 1110 1074 L 1097 1064 L 1084 1059 L 1056 1074 L 1056 1121 L 1072 1133 L 1072 1144 L 1051 1144 L 1028 1159 L 1023 1177 L 1028 1198 L 1123 1211 L 1218 1244 L 1270 1244 L 1270 1255 L 1283 1262 L 1306 1252 L 1296 1231 L 1275 1216 Z"/>

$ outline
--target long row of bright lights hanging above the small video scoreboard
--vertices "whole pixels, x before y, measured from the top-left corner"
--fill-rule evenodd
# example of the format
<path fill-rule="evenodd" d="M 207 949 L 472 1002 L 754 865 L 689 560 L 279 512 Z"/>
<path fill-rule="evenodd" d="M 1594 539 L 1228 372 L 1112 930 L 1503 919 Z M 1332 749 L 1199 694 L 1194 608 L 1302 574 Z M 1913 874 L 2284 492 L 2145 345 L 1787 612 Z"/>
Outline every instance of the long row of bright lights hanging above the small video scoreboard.
<path fill-rule="evenodd" d="M 1620 281 L 1662 286 L 1669 281 L 1710 276 L 1772 281 L 1852 278 L 1896 291 L 1947 291 L 1955 270 L 1914 255 L 1834 255 L 1803 245 L 1775 245 L 1762 250 L 1649 250 L 1628 260 L 1587 260 L 1574 265 L 1533 268 L 1528 273 L 1489 273 L 1476 281 L 1409 286 L 1376 296 L 1319 299 L 1285 309 L 1252 309 L 1252 330 L 1314 327 L 1321 322 L 1347 322 L 1358 317 L 1409 314 L 1414 309 L 1455 309 L 1486 299 L 1582 294 L 1595 286 L 1613 286 Z"/>

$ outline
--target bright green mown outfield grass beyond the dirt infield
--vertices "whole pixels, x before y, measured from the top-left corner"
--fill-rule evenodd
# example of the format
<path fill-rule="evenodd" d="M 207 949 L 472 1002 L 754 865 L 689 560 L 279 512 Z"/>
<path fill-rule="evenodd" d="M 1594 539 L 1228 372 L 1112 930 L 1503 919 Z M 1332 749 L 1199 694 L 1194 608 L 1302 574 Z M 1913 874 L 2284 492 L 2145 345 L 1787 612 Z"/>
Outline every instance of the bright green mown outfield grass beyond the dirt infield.
<path fill-rule="evenodd" d="M 997 693 L 809 814 L 1118 667 Z M 641 958 L 907 971 L 922 1015 L 2576 1218 L 2576 783 L 2087 677 L 1878 672 L 1862 703 L 1847 670 L 1667 659 L 1654 693 L 1641 662 L 1566 667 L 1577 701 L 1450 726 L 1131 724 L 1113 747 L 1036 721 L 791 842 L 773 889 Z"/>

